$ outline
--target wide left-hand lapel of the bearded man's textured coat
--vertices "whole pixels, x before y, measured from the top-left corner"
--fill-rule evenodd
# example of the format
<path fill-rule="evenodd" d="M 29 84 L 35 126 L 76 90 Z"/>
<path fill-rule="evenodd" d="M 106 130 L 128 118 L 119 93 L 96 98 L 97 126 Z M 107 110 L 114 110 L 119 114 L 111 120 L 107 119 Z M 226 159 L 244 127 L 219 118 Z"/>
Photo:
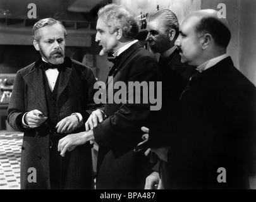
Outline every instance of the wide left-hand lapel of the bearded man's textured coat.
<path fill-rule="evenodd" d="M 24 76 L 28 88 L 35 94 L 37 104 L 44 114 L 47 114 L 46 89 L 44 88 L 44 71 L 40 68 L 41 60 L 35 62 L 34 67 Z"/>

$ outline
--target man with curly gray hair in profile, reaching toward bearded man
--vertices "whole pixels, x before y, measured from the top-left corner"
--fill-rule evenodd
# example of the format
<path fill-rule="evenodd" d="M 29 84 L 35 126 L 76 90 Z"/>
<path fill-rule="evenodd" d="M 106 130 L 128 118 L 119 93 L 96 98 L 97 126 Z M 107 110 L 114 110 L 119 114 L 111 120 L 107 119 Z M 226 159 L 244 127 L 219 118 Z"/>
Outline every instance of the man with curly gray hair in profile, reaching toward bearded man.
<path fill-rule="evenodd" d="M 114 52 L 116 62 L 109 71 L 109 79 L 128 86 L 129 82 L 157 81 L 155 57 L 135 40 L 138 23 L 123 6 L 107 4 L 99 9 L 96 42 L 102 47 L 100 55 Z M 106 82 L 107 83 L 107 82 Z M 106 91 L 113 95 L 118 88 Z M 128 88 L 125 94 L 130 95 Z M 97 160 L 96 189 L 143 189 L 145 178 L 152 167 L 143 155 L 133 148 L 140 142 L 141 126 L 147 126 L 150 118 L 150 102 L 143 102 L 143 91 L 133 95 L 140 103 L 114 103 L 108 100 L 103 110 L 95 110 L 85 126 L 87 132 L 71 134 L 60 140 L 59 149 L 63 155 L 68 148 L 95 140 L 99 145 Z"/>

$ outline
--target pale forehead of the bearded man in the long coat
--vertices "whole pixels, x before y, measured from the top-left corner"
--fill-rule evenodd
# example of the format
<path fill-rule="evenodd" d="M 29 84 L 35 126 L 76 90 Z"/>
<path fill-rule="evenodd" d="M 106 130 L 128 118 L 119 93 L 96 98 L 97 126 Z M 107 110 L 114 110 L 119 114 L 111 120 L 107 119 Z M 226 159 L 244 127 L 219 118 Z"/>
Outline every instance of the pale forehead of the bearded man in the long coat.
<path fill-rule="evenodd" d="M 59 24 L 42 27 L 39 29 L 41 39 L 64 38 L 63 27 Z"/>

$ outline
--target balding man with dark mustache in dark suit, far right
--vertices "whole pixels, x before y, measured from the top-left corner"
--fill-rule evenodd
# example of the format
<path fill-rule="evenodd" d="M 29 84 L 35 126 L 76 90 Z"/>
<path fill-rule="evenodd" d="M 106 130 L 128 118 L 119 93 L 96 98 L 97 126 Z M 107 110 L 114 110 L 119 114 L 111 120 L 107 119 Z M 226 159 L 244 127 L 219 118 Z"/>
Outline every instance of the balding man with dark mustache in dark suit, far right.
<path fill-rule="evenodd" d="M 168 189 L 250 189 L 255 176 L 256 88 L 228 55 L 231 31 L 218 12 L 185 16 L 174 43 L 197 73 L 163 120 L 170 135 L 157 144 L 149 135 L 151 149 L 167 150 Z"/>

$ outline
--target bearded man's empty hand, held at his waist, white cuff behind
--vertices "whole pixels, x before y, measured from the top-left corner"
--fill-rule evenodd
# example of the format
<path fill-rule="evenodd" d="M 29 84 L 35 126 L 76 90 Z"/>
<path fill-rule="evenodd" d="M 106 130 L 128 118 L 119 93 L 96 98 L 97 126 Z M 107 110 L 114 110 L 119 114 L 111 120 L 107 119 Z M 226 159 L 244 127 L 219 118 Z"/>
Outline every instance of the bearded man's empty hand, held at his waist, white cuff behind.
<path fill-rule="evenodd" d="M 55 128 L 57 128 L 58 133 L 71 133 L 78 126 L 82 126 L 82 124 L 79 124 L 75 115 L 71 115 L 59 121 Z"/>

